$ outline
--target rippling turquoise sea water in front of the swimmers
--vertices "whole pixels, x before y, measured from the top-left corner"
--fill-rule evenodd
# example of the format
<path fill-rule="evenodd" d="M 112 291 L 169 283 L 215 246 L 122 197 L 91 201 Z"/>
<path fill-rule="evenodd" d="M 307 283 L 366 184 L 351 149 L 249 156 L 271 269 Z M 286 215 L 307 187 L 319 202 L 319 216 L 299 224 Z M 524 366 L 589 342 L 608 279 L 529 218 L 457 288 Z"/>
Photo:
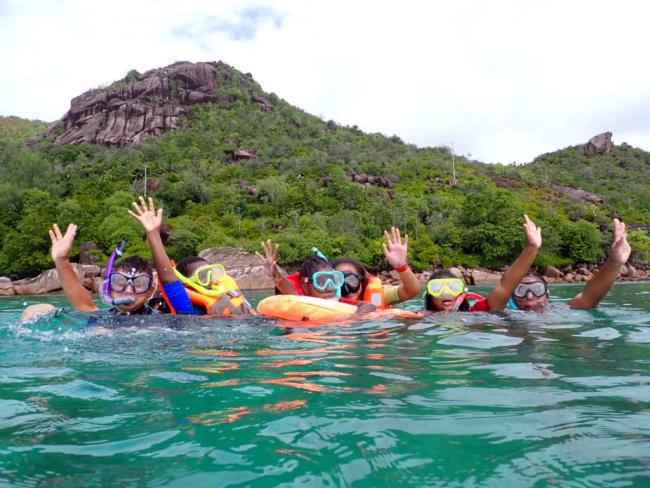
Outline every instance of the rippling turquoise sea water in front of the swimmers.
<path fill-rule="evenodd" d="M 650 283 L 560 303 L 580 289 L 546 314 L 102 334 L 2 298 L 0 486 L 650 486 Z"/>

